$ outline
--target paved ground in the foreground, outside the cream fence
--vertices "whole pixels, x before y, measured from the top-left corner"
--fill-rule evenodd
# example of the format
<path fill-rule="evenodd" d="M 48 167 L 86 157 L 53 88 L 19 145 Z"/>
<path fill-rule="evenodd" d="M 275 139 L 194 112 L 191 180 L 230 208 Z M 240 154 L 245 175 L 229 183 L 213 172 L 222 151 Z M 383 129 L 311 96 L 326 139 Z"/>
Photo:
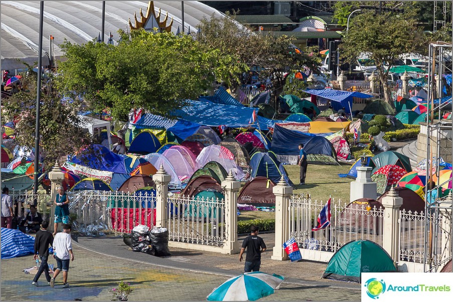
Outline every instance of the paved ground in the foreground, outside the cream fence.
<path fill-rule="evenodd" d="M 266 244 L 261 270 L 285 277 L 279 290 L 261 300 L 359 301 L 360 284 L 322 279 L 327 264 L 313 261 L 271 260 L 274 234 L 260 234 Z M 242 240 L 245 236 L 240 236 Z M 243 273 L 239 255 L 170 248 L 171 256 L 156 257 L 132 251 L 122 237 L 78 237 L 73 240 L 75 260 L 70 263 L 69 288 L 61 275 L 51 288 L 43 276 L 32 285 L 33 255 L 2 259 L 2 300 L 110 300 L 119 280 L 135 287 L 129 300 L 205 301 L 206 296 L 232 276 Z M 55 264 L 51 259 L 49 263 Z"/>

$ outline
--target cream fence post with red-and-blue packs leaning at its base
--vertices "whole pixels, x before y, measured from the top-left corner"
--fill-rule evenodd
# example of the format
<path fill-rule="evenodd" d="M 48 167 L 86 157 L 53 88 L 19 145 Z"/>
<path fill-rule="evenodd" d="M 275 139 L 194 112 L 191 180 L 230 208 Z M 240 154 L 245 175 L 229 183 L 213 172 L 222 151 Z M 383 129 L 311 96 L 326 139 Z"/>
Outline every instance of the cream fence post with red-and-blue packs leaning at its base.
<path fill-rule="evenodd" d="M 275 246 L 271 259 L 288 260 L 289 257 L 283 249 L 283 243 L 289 239 L 289 206 L 293 187 L 286 183 L 282 175 L 272 192 L 275 195 Z"/>

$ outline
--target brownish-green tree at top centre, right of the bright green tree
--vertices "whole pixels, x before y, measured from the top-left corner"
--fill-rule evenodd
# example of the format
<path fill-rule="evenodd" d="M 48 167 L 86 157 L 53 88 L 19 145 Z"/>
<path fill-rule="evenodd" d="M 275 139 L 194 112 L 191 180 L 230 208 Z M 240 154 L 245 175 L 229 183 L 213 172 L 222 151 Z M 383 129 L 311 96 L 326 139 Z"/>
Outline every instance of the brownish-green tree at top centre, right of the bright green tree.
<path fill-rule="evenodd" d="M 222 55 L 239 56 L 240 62 L 249 68 L 256 68 L 261 78 L 271 79 L 272 99 L 275 108 L 278 96 L 283 92 L 286 74 L 299 70 L 319 72 L 321 59 L 313 53 L 312 48 L 299 51 L 292 44 L 294 38 L 275 36 L 272 32 L 256 34 L 235 20 L 236 12 L 223 18 L 203 19 L 200 23 L 198 41 L 207 48 L 217 48 Z M 238 26 L 239 25 L 239 26 Z M 232 90 L 240 84 L 231 79 Z"/>

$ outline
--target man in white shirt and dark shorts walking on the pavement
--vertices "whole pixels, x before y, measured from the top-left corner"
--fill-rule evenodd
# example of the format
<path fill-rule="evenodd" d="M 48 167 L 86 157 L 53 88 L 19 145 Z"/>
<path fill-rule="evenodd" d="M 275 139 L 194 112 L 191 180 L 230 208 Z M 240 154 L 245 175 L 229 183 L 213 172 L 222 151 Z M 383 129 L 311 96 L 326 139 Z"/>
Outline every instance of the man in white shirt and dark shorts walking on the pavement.
<path fill-rule="evenodd" d="M 63 232 L 55 235 L 53 247 L 54 258 L 57 260 L 57 269 L 55 269 L 54 277 L 50 279 L 50 286 L 54 287 L 55 278 L 60 274 L 60 271 L 63 271 L 63 287 L 69 287 L 69 259 L 74 261 L 71 244 L 71 224 L 64 224 Z"/>

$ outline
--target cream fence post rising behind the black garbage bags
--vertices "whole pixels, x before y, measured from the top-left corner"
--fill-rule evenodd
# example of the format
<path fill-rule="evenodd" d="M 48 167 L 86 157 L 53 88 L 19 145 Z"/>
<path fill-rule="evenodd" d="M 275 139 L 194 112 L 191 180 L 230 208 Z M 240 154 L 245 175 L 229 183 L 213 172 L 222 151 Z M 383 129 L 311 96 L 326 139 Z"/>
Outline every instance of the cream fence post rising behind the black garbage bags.
<path fill-rule="evenodd" d="M 163 165 L 160 164 L 157 173 L 152 175 L 152 180 L 156 184 L 156 227 L 166 227 L 167 222 L 167 197 L 168 183 L 171 181 L 171 176 L 167 174 Z"/>

